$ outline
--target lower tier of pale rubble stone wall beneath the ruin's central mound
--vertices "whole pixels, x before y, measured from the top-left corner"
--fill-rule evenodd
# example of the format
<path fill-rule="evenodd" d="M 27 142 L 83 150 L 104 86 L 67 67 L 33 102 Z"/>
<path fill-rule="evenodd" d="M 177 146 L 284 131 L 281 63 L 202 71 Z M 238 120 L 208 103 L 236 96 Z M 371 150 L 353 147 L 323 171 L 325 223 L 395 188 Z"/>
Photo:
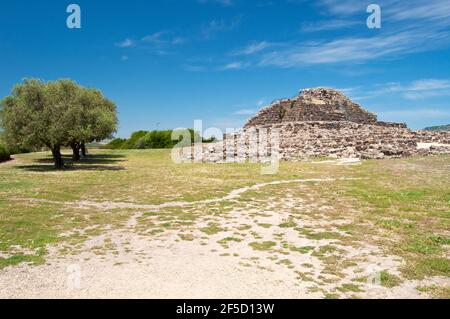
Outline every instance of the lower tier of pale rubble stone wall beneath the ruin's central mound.
<path fill-rule="evenodd" d="M 253 127 L 227 135 L 222 142 L 205 144 L 197 149 L 196 158 L 204 162 L 266 162 L 275 151 L 279 159 L 286 161 L 309 157 L 398 158 L 416 154 L 417 139 L 414 132 L 401 124 L 292 122 Z M 193 156 L 194 152 L 185 159 L 193 159 Z"/>

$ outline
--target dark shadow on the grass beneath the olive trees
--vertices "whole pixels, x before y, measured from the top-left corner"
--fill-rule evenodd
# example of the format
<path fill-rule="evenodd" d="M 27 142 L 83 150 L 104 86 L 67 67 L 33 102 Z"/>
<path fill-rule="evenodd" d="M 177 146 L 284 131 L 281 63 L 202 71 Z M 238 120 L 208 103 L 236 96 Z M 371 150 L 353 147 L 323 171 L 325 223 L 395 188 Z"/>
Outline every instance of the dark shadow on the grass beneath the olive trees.
<path fill-rule="evenodd" d="M 123 166 L 112 165 L 123 162 L 125 156 L 119 154 L 93 154 L 82 158 L 78 162 L 72 160 L 72 156 L 63 155 L 66 171 L 121 171 L 125 170 Z M 21 165 L 18 169 L 31 172 L 55 172 L 53 158 L 47 156 L 45 158 L 36 159 L 35 165 Z"/>

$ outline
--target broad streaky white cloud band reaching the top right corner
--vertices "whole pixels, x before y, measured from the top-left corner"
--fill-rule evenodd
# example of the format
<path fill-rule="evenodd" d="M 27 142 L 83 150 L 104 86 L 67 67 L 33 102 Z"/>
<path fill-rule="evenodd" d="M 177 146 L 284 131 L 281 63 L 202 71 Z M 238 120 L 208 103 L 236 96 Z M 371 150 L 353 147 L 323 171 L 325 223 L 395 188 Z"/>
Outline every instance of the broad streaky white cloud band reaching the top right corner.
<path fill-rule="evenodd" d="M 450 2 L 425 0 L 379 1 L 383 21 L 389 28 L 367 32 L 364 16 L 367 3 L 360 0 L 321 0 L 319 5 L 333 16 L 319 22 L 306 22 L 302 32 L 323 32 L 357 25 L 355 35 L 332 40 L 284 41 L 276 46 L 251 42 L 235 54 L 248 56 L 247 65 L 296 68 L 308 65 L 366 63 L 380 59 L 401 58 L 450 45 Z M 363 18 L 363 19 L 361 19 Z"/>

